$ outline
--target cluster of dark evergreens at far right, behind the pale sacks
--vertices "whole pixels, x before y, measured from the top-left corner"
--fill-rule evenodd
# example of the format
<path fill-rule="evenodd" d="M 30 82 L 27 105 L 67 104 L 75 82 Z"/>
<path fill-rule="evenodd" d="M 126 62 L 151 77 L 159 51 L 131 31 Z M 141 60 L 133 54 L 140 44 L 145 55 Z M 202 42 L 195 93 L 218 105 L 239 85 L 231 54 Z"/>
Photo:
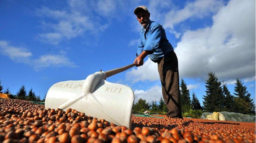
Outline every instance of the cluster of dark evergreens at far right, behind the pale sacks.
<path fill-rule="evenodd" d="M 208 73 L 205 82 L 206 95 L 203 96 L 203 108 L 205 112 L 235 112 L 255 115 L 255 105 L 247 87 L 236 79 L 234 96 L 228 91 L 227 85 L 223 86 L 214 73 Z"/>

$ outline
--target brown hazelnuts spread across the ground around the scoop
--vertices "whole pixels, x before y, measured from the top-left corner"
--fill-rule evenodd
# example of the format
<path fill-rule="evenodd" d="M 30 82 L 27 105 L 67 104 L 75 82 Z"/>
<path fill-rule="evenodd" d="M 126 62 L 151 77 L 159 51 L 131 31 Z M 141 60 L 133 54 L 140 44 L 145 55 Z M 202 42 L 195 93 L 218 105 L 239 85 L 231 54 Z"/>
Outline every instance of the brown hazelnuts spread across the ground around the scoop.
<path fill-rule="evenodd" d="M 0 99 L 3 143 L 191 143 L 255 142 L 255 123 L 132 116 L 132 128 L 93 118 L 75 109 L 50 109 Z"/>

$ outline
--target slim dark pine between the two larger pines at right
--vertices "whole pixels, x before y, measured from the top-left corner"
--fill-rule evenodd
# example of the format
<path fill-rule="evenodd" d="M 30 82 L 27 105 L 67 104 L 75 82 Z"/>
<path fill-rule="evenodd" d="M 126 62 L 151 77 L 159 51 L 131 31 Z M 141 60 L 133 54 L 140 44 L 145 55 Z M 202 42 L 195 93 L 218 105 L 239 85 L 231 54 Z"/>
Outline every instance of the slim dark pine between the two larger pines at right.
<path fill-rule="evenodd" d="M 223 82 L 224 83 L 224 82 Z M 228 91 L 228 87 L 226 84 L 223 84 L 223 94 L 225 96 L 225 108 L 227 112 L 234 112 L 234 96 L 230 94 Z"/>

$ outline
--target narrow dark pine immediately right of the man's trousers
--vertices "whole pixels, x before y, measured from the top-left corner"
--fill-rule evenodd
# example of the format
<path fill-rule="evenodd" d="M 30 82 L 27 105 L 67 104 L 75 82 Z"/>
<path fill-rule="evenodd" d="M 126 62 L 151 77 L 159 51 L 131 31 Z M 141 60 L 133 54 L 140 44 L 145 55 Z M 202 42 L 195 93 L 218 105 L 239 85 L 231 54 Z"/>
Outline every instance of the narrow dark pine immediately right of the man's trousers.
<path fill-rule="evenodd" d="M 184 113 L 189 111 L 191 108 L 191 100 L 189 89 L 187 88 L 187 84 L 183 79 L 181 79 L 180 88 L 181 111 Z"/>

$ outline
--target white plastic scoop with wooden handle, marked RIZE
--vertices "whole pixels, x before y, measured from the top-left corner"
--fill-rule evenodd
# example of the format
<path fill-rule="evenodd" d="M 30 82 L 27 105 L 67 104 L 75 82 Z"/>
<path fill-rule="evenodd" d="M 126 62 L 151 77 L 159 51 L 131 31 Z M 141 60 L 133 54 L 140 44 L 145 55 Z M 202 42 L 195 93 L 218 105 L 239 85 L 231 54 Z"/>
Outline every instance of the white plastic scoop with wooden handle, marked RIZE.
<path fill-rule="evenodd" d="M 136 64 L 96 72 L 85 80 L 55 83 L 47 92 L 45 108 L 60 108 L 65 111 L 72 108 L 85 115 L 131 128 L 133 90 L 125 85 L 108 82 L 106 78 Z"/>

